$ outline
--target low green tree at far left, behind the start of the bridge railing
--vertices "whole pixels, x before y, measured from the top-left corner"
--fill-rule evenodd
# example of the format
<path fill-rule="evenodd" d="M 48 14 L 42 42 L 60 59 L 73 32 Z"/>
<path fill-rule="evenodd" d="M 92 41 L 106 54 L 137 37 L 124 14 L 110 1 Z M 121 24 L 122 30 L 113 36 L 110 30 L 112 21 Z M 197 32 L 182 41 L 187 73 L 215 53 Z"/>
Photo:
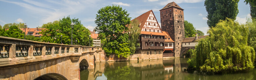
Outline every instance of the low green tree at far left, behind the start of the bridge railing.
<path fill-rule="evenodd" d="M 1 29 L 0 36 L 24 39 L 24 33 L 17 26 L 10 26 L 6 31 Z"/>

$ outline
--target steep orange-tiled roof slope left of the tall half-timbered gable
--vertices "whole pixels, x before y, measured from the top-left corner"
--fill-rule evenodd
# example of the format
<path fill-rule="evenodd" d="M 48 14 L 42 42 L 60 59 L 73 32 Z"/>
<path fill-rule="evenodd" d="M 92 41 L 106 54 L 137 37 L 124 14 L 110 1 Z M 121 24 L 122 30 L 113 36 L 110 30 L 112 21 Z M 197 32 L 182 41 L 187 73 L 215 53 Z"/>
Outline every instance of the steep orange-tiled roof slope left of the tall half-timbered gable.
<path fill-rule="evenodd" d="M 150 14 L 151 11 L 152 11 L 152 10 L 150 10 L 150 11 L 148 11 L 148 12 L 146 12 L 146 13 L 140 15 L 140 16 L 137 17 L 137 18 L 135 18 L 135 19 L 137 19 L 138 22 L 140 23 L 140 29 L 141 29 L 141 30 L 142 30 L 143 26 L 145 25 L 144 23 L 147 21 L 147 18 L 148 18 L 148 16 L 149 16 L 149 14 Z M 133 19 L 133 20 L 135 20 L 135 19 Z M 133 20 L 132 20 L 132 21 L 133 21 Z"/>

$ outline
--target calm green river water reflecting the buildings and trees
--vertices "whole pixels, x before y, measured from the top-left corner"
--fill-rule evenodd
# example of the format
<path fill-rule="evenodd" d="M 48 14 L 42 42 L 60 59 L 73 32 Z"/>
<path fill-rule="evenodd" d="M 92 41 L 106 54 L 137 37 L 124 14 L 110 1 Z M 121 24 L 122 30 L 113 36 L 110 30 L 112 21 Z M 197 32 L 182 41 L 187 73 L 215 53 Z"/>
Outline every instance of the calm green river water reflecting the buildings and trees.
<path fill-rule="evenodd" d="M 256 80 L 256 69 L 247 73 L 199 75 L 184 72 L 188 58 L 125 62 L 97 62 L 81 69 L 81 80 Z"/>

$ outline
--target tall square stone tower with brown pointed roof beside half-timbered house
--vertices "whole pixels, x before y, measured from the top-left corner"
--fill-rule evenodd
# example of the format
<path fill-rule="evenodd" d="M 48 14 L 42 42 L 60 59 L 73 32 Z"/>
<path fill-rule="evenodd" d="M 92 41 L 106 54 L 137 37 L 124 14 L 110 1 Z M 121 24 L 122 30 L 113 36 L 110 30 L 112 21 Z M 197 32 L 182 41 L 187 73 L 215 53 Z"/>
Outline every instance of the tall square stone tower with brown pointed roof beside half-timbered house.
<path fill-rule="evenodd" d="M 175 57 L 182 57 L 181 44 L 185 37 L 183 10 L 175 2 L 168 3 L 163 9 L 159 10 L 162 31 L 167 31 L 174 40 L 173 52 Z"/>

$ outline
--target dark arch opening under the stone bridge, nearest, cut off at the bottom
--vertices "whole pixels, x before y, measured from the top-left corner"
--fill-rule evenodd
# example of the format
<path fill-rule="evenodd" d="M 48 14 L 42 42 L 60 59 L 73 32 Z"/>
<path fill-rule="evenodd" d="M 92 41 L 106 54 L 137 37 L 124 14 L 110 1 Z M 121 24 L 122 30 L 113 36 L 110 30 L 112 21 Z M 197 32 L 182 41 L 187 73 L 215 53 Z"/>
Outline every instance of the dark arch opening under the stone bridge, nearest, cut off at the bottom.
<path fill-rule="evenodd" d="M 34 80 L 67 80 L 63 75 L 58 74 L 58 73 L 48 73 L 41 75 Z"/>

